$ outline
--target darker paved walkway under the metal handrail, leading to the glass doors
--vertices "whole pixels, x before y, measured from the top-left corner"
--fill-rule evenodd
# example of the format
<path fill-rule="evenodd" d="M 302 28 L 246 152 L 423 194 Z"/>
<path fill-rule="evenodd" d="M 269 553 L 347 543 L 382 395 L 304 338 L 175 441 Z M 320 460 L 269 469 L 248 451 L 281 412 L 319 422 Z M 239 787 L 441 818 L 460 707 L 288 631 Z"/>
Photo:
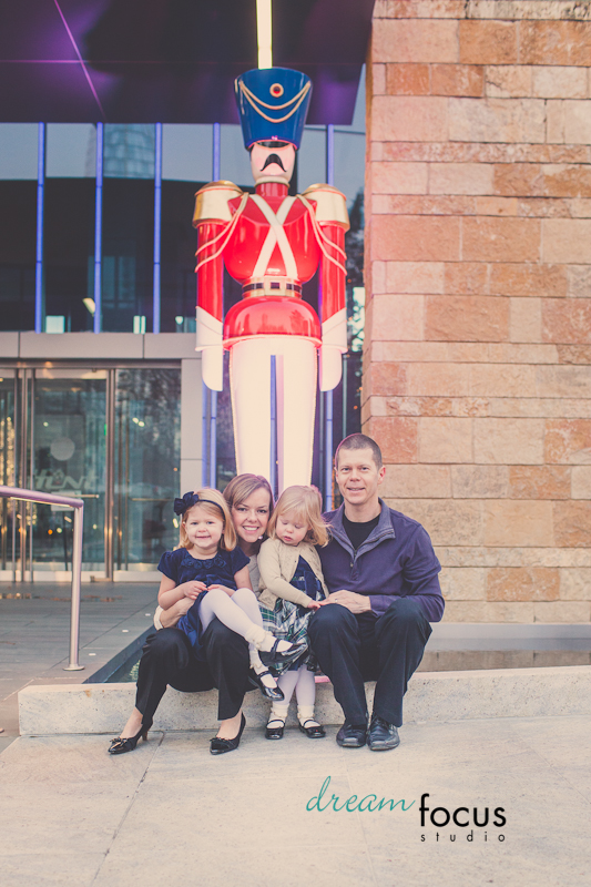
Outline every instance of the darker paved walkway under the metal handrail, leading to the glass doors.
<path fill-rule="evenodd" d="M 67 672 L 71 585 L 0 583 L 0 751 L 19 735 L 19 690 L 32 684 L 104 681 L 152 628 L 157 584 L 90 582 L 82 585 L 80 664 Z M 20 595 L 20 597 L 16 597 Z M 111 664 L 110 664 L 111 663 Z"/>

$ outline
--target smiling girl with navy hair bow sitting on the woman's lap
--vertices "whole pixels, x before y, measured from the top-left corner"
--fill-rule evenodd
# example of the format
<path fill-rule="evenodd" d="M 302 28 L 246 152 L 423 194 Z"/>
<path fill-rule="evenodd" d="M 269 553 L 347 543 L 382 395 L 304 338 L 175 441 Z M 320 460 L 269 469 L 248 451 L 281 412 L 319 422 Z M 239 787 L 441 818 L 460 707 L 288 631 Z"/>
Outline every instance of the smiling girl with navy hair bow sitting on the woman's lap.
<path fill-rule="evenodd" d="M 273 675 L 265 670 L 258 651 L 277 654 L 292 651 L 292 644 L 277 640 L 263 628 L 257 600 L 251 588 L 248 558 L 236 547 L 236 533 L 221 492 L 202 489 L 174 500 L 182 514 L 181 544 L 160 559 L 163 573 L 159 604 L 167 610 L 183 598 L 194 603 L 181 616 L 177 628 L 188 636 L 197 657 L 200 639 L 214 616 L 248 641 L 251 667 L 257 684 L 271 699 L 282 699 Z"/>

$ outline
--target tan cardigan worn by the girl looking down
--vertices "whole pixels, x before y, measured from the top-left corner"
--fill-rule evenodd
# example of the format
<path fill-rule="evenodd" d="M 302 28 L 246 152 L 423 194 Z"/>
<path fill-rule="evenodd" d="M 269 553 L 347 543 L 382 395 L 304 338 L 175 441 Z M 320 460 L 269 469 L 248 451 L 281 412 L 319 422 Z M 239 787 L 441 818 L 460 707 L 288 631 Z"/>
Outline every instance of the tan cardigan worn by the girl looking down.
<path fill-rule="evenodd" d="M 309 563 L 314 575 L 320 580 L 325 597 L 328 595 L 320 559 L 314 546 L 310 546 L 309 542 L 286 546 L 279 539 L 267 539 L 263 542 L 258 552 L 258 570 L 261 572 L 258 602 L 263 606 L 273 610 L 277 598 L 292 601 L 292 603 L 299 603 L 303 606 L 308 605 L 308 595 L 289 584 L 289 581 L 294 578 L 300 555 Z"/>

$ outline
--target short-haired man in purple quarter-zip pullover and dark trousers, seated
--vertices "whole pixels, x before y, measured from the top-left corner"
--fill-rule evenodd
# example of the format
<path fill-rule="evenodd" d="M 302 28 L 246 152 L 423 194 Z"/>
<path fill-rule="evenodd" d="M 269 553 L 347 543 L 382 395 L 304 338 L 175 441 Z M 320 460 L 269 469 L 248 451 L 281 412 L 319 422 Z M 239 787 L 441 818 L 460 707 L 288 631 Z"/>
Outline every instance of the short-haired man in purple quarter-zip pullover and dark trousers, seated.
<path fill-rule="evenodd" d="M 359 748 L 367 742 L 374 752 L 386 751 L 400 743 L 403 696 L 422 659 L 429 622 L 444 614 L 441 567 L 420 523 L 378 498 L 385 468 L 375 440 L 345 438 L 335 472 L 345 501 L 325 514 L 332 540 L 319 550 L 330 594 L 308 634 L 345 713 L 337 743 Z M 368 680 L 376 681 L 369 730 Z"/>

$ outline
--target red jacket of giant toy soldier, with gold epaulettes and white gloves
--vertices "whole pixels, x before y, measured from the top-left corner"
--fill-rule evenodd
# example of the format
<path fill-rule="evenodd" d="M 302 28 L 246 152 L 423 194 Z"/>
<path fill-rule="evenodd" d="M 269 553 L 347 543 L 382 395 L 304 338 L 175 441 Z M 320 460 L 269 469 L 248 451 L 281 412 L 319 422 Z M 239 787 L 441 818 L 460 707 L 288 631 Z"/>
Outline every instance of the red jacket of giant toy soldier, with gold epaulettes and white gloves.
<path fill-rule="evenodd" d="M 247 194 L 232 182 L 212 182 L 196 194 L 193 225 L 198 231 L 196 348 L 203 351 L 205 384 L 222 389 L 222 345 L 285 335 L 322 347 L 320 389 L 334 388 L 347 350 L 344 194 L 312 185 L 288 196 L 287 186 L 276 181 L 258 183 L 256 193 Z M 244 296 L 225 320 L 224 263 Z M 318 264 L 320 319 L 302 299 L 302 284 Z"/>

